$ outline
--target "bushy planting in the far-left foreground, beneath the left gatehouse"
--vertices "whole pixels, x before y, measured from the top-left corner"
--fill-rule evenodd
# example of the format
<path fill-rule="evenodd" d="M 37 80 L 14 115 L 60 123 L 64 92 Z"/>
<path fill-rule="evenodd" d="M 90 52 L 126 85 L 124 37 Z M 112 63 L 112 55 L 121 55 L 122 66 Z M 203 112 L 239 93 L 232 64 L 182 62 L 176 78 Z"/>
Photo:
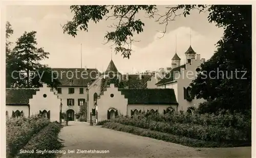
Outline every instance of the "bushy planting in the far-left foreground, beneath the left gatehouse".
<path fill-rule="evenodd" d="M 6 122 L 7 157 L 14 157 L 34 134 L 47 126 L 50 121 L 42 117 L 12 118 Z"/>

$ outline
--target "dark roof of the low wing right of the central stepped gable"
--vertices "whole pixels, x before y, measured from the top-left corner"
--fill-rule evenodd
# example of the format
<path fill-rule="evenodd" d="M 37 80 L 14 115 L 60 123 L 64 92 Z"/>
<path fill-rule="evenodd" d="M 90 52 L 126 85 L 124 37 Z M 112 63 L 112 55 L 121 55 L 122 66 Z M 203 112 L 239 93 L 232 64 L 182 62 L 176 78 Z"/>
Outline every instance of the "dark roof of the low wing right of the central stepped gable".
<path fill-rule="evenodd" d="M 174 89 L 118 89 L 128 104 L 178 104 Z"/>

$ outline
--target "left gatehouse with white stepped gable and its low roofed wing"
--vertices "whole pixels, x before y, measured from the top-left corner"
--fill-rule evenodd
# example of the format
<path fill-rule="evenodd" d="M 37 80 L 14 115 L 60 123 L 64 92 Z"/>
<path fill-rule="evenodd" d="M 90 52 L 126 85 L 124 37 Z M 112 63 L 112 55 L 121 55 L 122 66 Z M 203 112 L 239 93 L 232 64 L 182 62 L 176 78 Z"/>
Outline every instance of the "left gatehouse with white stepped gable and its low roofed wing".
<path fill-rule="evenodd" d="M 61 105 L 61 99 L 47 84 L 38 89 L 6 88 L 6 119 L 40 114 L 59 121 Z"/>

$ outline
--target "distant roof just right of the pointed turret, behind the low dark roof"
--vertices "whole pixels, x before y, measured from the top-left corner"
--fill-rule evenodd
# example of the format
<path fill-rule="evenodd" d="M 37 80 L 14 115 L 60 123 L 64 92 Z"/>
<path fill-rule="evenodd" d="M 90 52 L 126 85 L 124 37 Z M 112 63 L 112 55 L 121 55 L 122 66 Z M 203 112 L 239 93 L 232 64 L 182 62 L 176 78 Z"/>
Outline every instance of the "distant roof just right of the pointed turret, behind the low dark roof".
<path fill-rule="evenodd" d="M 126 75 L 122 75 L 122 84 L 123 87 L 129 87 L 130 89 L 137 89 L 137 88 L 145 88 L 146 81 L 151 78 L 150 75 L 141 75 L 141 80 L 139 75 L 129 75 L 129 80 L 126 80 Z"/>

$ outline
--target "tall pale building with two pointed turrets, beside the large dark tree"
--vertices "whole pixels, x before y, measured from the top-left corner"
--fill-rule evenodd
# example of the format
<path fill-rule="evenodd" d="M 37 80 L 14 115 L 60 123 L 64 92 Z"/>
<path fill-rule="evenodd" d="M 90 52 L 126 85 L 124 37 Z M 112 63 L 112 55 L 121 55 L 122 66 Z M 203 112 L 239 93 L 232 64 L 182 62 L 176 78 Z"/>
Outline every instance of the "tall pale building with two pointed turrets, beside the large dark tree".
<path fill-rule="evenodd" d="M 179 103 L 178 110 L 191 112 L 188 107 L 198 107 L 203 99 L 196 99 L 191 93 L 189 84 L 195 79 L 197 72 L 200 71 L 200 65 L 205 61 L 200 58 L 191 46 L 185 52 L 186 63 L 180 65 L 180 58 L 175 53 L 172 59 L 172 70 L 163 77 L 158 83 L 157 88 L 172 88 L 175 91 L 177 102 Z"/>

